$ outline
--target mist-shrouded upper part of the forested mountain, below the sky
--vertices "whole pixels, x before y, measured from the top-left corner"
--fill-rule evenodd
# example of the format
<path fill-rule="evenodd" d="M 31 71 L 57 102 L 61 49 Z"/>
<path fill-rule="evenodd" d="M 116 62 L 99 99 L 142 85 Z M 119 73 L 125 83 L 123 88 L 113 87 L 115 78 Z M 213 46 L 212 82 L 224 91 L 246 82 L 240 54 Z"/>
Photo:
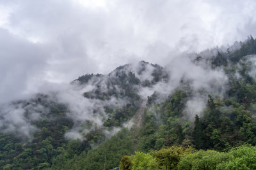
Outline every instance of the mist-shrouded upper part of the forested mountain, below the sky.
<path fill-rule="evenodd" d="M 87 139 L 90 133 L 100 132 L 102 137 L 91 143 L 96 146 L 123 127 L 140 124 L 140 108 L 147 107 L 159 117 L 154 104 L 164 103 L 177 90 L 186 92 L 182 117 L 193 122 L 195 115 L 203 113 L 209 95 L 214 99 L 228 97 L 229 82 L 243 78 L 239 70 L 244 64 L 251 68 L 248 74 L 255 80 L 255 55 L 234 62 L 252 39 L 228 48 L 172 57 L 164 67 L 141 61 L 117 67 L 109 74 L 84 74 L 69 84 L 49 86 L 44 94 L 31 99 L 1 104 L 1 132 L 31 140 L 42 122 L 52 124 L 64 116 L 68 122 L 65 138 Z"/>

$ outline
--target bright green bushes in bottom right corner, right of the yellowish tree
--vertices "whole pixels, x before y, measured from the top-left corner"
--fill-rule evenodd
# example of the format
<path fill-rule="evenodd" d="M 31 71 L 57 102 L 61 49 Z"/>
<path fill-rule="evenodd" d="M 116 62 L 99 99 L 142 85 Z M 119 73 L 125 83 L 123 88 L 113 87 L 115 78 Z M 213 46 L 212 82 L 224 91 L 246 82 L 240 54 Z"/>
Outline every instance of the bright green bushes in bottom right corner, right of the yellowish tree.
<path fill-rule="evenodd" d="M 256 147 L 243 145 L 230 152 L 200 150 L 180 159 L 178 169 L 255 169 Z"/>

